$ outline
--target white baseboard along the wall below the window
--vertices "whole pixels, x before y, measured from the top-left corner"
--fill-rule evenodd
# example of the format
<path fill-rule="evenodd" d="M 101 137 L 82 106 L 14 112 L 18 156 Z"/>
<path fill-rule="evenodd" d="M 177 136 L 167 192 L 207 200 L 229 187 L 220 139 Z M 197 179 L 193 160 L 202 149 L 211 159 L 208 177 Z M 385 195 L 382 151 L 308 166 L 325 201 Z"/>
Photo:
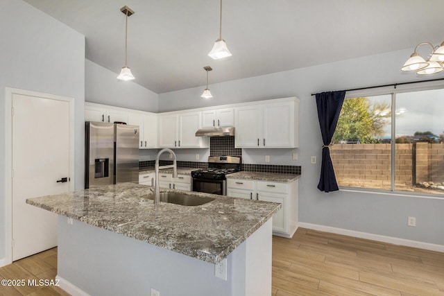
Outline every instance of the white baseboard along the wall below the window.
<path fill-rule="evenodd" d="M 354 230 L 317 225 L 311 223 L 299 223 L 299 227 L 318 230 L 320 232 L 331 232 L 333 234 L 342 234 L 345 236 L 355 236 L 357 238 L 366 238 L 373 241 L 380 241 L 383 243 L 392 243 L 393 245 L 404 245 L 407 247 L 418 247 L 419 249 L 444 252 L 444 245 L 436 245 L 434 243 L 423 243 L 421 241 L 410 241 L 404 238 L 395 238 L 392 236 L 382 236 L 379 234 L 369 234 L 367 232 L 356 232 Z"/>

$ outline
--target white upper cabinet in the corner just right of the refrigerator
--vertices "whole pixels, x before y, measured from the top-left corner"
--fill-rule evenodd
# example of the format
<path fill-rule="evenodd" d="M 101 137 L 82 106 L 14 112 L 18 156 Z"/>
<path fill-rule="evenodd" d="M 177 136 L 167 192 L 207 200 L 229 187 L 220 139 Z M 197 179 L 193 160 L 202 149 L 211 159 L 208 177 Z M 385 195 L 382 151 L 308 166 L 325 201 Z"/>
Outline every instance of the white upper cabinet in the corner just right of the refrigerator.
<path fill-rule="evenodd" d="M 157 148 L 157 115 L 150 112 L 129 112 L 128 124 L 139 125 L 139 148 Z"/>

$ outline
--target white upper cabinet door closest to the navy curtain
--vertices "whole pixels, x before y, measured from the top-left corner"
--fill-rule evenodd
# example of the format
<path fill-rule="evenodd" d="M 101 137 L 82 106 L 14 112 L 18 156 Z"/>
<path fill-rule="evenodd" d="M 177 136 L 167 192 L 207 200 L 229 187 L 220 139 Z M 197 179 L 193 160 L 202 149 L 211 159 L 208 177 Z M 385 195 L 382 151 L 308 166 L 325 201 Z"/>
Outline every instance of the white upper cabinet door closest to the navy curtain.
<path fill-rule="evenodd" d="M 267 148 L 293 148 L 294 143 L 294 102 L 265 104 L 264 138 Z"/>

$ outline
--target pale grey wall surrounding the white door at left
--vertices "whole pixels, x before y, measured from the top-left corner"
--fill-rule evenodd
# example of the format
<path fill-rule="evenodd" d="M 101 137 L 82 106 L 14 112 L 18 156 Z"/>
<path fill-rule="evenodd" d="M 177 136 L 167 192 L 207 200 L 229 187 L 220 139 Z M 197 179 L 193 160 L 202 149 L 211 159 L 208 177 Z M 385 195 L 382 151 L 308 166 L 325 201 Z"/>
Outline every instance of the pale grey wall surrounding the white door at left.
<path fill-rule="evenodd" d="M 75 100 L 76 189 L 84 179 L 85 37 L 24 1 L 0 1 L 0 114 L 5 87 Z M 0 121 L 0 261 L 5 256 L 5 122 Z M 32 153 L 32 146 L 29 147 Z"/>

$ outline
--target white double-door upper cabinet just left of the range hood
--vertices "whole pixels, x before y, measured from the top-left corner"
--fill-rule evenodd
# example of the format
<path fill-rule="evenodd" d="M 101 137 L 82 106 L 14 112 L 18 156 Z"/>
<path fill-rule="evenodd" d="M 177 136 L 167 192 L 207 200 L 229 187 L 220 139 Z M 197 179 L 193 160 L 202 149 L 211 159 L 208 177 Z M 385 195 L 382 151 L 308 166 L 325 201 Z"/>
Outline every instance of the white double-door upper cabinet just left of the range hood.
<path fill-rule="evenodd" d="M 196 137 L 201 127 L 201 112 L 163 114 L 159 120 L 160 148 L 207 148 L 207 137 Z"/>

